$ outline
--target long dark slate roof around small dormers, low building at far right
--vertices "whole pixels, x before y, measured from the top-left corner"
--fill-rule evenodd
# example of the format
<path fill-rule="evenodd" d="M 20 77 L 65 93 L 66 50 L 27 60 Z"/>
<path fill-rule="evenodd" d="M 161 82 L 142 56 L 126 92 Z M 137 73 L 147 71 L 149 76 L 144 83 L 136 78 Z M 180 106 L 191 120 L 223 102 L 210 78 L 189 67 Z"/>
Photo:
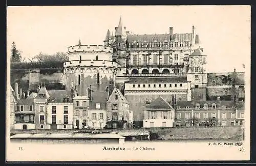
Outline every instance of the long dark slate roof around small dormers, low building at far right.
<path fill-rule="evenodd" d="M 174 107 L 177 108 L 180 106 L 180 108 L 186 108 L 188 106 L 189 108 L 195 108 L 196 104 L 200 104 L 200 108 L 203 108 L 204 104 L 208 105 L 208 108 L 211 107 L 211 104 L 215 103 L 217 106 L 217 103 L 219 102 L 220 107 L 226 106 L 226 108 L 231 108 L 234 105 L 234 101 L 227 101 L 227 100 L 207 100 L 207 101 L 177 101 L 176 104 L 174 104 Z M 237 101 L 236 102 L 237 108 L 242 110 L 244 109 L 244 101 Z"/>

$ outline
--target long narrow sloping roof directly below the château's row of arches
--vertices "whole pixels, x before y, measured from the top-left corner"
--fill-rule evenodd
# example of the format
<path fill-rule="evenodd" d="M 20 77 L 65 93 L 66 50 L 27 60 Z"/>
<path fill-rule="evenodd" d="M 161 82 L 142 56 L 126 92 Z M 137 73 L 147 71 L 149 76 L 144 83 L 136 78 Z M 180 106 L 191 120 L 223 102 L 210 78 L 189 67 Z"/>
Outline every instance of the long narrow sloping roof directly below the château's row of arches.
<path fill-rule="evenodd" d="M 147 83 L 181 83 L 187 82 L 186 77 L 130 77 L 127 83 L 134 84 L 147 84 Z"/>

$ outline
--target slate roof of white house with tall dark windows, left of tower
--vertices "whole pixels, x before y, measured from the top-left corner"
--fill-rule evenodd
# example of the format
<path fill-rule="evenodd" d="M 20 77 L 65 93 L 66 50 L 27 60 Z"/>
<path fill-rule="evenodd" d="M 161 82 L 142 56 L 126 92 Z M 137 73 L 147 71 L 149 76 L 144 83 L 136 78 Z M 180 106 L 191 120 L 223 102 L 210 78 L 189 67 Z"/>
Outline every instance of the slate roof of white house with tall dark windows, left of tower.
<path fill-rule="evenodd" d="M 50 99 L 49 103 L 62 103 L 63 98 L 69 98 L 69 102 L 72 102 L 72 96 L 70 91 L 66 90 L 50 90 Z"/>

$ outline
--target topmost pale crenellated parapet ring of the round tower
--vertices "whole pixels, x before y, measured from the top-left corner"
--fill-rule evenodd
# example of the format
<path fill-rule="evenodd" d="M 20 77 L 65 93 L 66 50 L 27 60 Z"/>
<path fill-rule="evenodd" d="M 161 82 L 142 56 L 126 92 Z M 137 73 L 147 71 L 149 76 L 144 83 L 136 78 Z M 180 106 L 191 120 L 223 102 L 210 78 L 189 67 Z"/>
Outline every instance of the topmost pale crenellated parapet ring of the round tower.
<path fill-rule="evenodd" d="M 68 53 L 80 51 L 100 51 L 113 53 L 113 48 L 103 45 L 74 45 L 68 47 Z"/>

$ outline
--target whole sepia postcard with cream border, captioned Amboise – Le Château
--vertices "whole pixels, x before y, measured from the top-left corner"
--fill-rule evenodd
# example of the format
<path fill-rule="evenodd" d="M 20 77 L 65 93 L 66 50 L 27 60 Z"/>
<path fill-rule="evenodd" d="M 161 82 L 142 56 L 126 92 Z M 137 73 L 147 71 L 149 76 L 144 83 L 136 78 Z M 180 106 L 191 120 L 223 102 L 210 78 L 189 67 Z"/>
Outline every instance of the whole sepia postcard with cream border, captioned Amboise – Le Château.
<path fill-rule="evenodd" d="M 6 161 L 250 160 L 250 6 L 9 6 Z"/>

